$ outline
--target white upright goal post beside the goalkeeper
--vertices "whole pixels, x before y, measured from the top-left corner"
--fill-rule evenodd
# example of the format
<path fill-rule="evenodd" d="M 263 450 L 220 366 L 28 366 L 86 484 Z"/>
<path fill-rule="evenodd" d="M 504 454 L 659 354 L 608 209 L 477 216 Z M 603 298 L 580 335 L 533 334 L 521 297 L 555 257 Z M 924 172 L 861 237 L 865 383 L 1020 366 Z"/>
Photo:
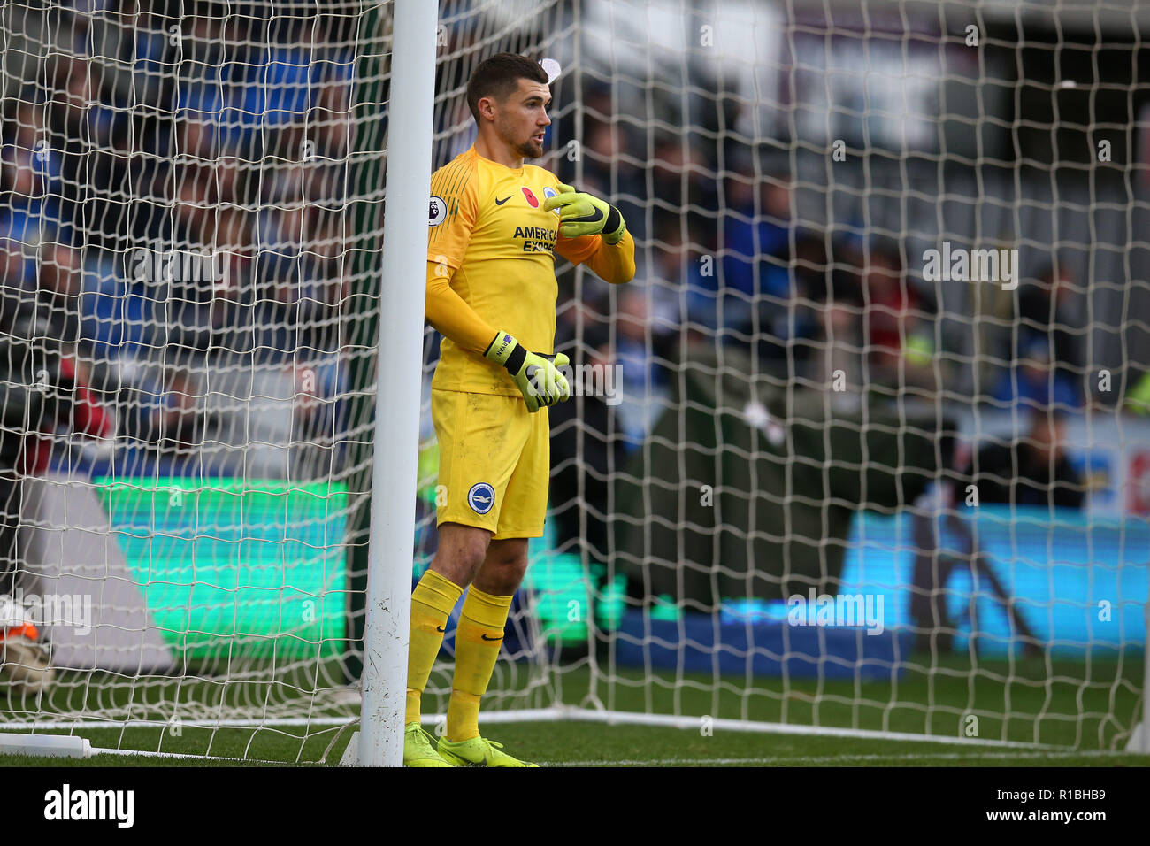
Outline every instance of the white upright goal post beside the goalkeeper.
<path fill-rule="evenodd" d="M 383 283 L 363 634 L 361 765 L 402 767 L 411 620 L 412 543 L 415 534 L 420 442 L 420 373 L 423 289 L 427 273 L 427 206 L 431 173 L 431 108 L 435 104 L 436 8 L 396 0 L 392 53 L 396 73 L 390 120 L 401 132 L 388 144 L 388 200 L 383 224 Z M 404 249 L 386 249 L 402 244 Z"/>

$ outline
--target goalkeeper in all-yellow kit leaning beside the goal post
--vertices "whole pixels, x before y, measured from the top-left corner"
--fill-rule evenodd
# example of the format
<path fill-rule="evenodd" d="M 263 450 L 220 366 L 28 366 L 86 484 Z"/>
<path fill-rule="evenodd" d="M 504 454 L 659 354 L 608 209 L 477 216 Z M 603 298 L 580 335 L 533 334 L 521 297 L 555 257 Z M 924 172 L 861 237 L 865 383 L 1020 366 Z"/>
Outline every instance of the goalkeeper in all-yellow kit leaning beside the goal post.
<path fill-rule="evenodd" d="M 635 242 L 619 211 L 524 159 L 543 155 L 546 71 L 500 53 L 467 85 L 475 144 L 431 177 L 427 319 L 444 335 L 431 382 L 439 442 L 439 544 L 412 593 L 404 763 L 526 767 L 480 736 L 480 698 L 543 535 L 550 477 L 547 406 L 567 399 L 566 356 L 552 357 L 554 256 L 607 282 L 635 275 Z M 442 502 L 440 497 L 440 502 Z M 446 734 L 420 726 L 420 696 L 447 616 L 470 585 L 455 631 Z"/>

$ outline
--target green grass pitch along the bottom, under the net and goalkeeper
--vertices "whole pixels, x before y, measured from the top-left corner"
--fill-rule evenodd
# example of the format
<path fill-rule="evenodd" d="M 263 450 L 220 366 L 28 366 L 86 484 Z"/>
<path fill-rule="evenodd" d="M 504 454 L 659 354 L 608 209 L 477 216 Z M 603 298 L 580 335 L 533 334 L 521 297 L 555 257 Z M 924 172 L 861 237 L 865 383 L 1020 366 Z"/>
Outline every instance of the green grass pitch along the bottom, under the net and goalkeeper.
<path fill-rule="evenodd" d="M 987 662 L 977 670 L 959 660 L 935 665 L 930 672 L 907 672 L 896 681 L 818 681 L 777 678 L 711 678 L 672 673 L 645 674 L 638 670 L 604 666 L 592 673 L 583 657 L 564 665 L 546 680 L 546 696 L 568 704 L 601 703 L 613 710 L 675 714 L 698 719 L 697 729 L 673 729 L 582 721 L 491 723 L 484 734 L 504 742 L 512 754 L 545 765 L 578 767 L 994 767 L 1150 765 L 1150 756 L 1111 752 L 1116 734 L 1137 714 L 1141 655 L 1124 661 L 1090 663 L 1032 661 Z M 444 665 L 437 669 L 443 672 Z M 526 673 L 524 673 L 526 674 Z M 122 680 L 122 679 L 121 679 Z M 87 695 L 90 714 L 109 700 L 129 704 L 171 702 L 186 696 L 198 702 L 232 698 L 248 704 L 268 695 L 266 684 L 212 684 L 156 679 L 117 691 L 97 693 L 93 684 L 68 686 L 57 704 L 77 708 Z M 299 680 L 275 685 L 276 693 L 306 698 Z M 85 693 L 82 693 L 84 691 Z M 492 710 L 538 707 L 544 701 L 524 693 L 519 700 L 496 698 Z M 216 700 L 212 698 L 215 696 Z M 51 703 L 49 703 L 51 704 Z M 442 712 L 442 696 L 429 696 L 424 710 Z M 10 704 L 5 709 L 15 711 Z M 975 745 L 960 737 L 967 715 L 979 718 L 979 738 L 1053 748 Z M 1075 715 L 1067 718 L 1067 715 Z M 18 714 L 14 715 L 18 717 Z M 907 741 L 860 737 L 781 734 L 726 730 L 707 731 L 704 717 L 785 722 L 846 729 L 885 729 L 891 732 L 929 731 L 950 742 Z M 0 756 L 0 765 L 190 767 L 190 765 L 336 765 L 352 730 L 354 715 L 342 725 L 202 729 L 184 725 L 178 736 L 160 726 L 89 729 L 76 733 L 94 747 L 147 749 L 176 755 L 210 755 L 216 760 L 97 755 L 75 759 Z M 5 731 L 0 719 L 0 731 Z M 481 726 L 483 724 L 481 717 Z M 1120 746 L 1120 744 L 1119 744 Z M 244 759 L 228 761 L 218 759 Z"/>

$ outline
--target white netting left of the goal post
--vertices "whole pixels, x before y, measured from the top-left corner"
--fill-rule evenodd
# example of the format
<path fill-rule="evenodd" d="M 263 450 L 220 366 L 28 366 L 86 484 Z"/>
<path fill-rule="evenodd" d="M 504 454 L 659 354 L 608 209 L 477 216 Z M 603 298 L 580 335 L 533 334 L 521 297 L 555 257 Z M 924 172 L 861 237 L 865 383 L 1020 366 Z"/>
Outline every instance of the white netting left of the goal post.
<path fill-rule="evenodd" d="M 5 6 L 0 722 L 348 712 L 390 14 Z"/>

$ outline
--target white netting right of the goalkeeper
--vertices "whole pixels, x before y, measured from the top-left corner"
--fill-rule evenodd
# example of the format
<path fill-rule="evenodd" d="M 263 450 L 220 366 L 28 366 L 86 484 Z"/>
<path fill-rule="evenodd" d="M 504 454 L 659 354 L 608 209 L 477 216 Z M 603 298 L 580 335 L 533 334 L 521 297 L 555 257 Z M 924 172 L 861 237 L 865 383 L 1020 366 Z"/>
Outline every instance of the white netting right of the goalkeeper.
<path fill-rule="evenodd" d="M 1122 9 L 578 8 L 545 163 L 619 205 L 639 270 L 560 268 L 557 350 L 618 379 L 551 411 L 555 700 L 1127 742 L 1150 291 Z"/>

